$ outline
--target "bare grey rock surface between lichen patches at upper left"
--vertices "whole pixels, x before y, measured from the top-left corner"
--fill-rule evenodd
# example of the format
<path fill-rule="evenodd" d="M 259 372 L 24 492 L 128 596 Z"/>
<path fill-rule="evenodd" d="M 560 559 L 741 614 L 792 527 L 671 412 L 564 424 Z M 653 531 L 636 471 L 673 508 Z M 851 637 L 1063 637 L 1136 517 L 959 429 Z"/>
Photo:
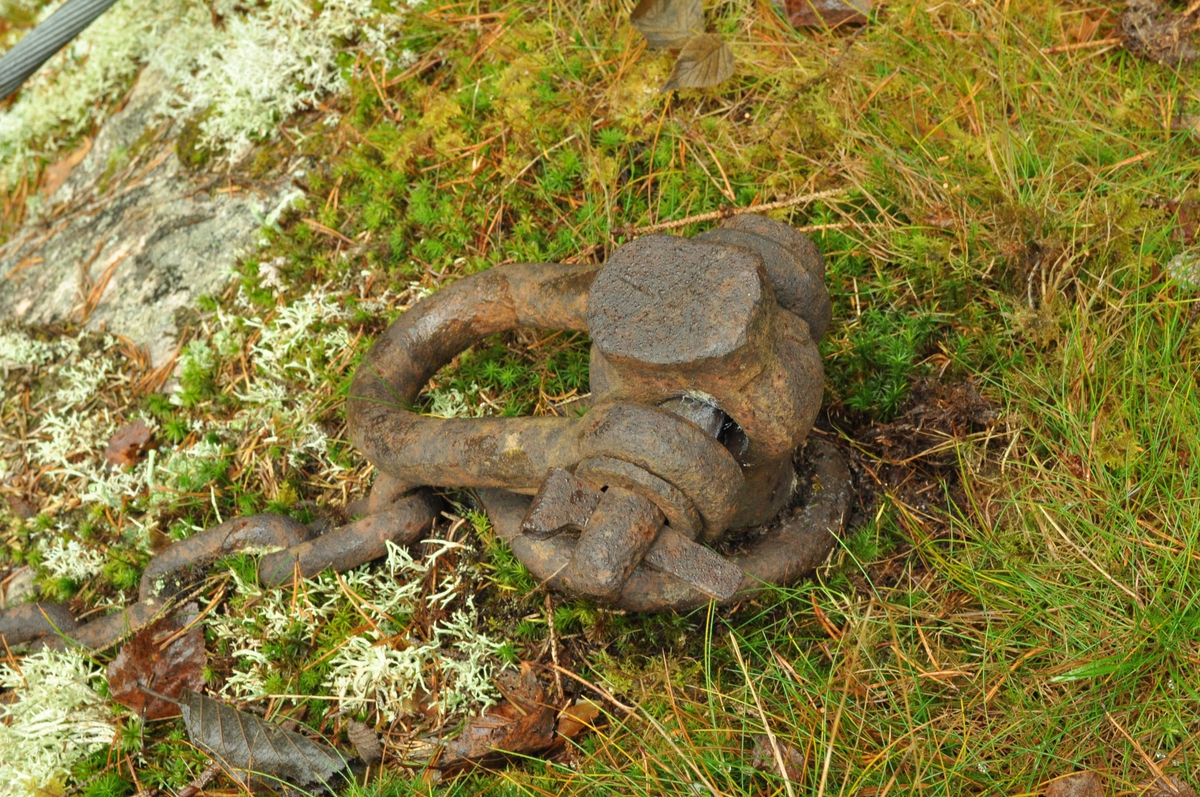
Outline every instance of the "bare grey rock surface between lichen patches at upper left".
<path fill-rule="evenodd" d="M 0 322 L 85 322 L 146 346 L 160 365 L 176 347 L 176 311 L 221 290 L 263 218 L 298 196 L 286 176 L 246 188 L 190 173 L 157 115 L 169 89 L 143 72 L 41 220 L 0 248 Z"/>

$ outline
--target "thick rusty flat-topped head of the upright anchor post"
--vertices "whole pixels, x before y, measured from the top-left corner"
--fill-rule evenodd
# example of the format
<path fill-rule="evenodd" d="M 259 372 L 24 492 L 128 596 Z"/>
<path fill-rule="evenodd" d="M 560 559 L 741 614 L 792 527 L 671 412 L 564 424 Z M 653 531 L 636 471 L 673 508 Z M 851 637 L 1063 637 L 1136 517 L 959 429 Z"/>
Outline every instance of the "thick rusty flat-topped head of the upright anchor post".
<path fill-rule="evenodd" d="M 593 392 L 715 405 L 748 438 L 745 467 L 790 456 L 821 406 L 824 376 L 809 326 L 779 306 L 749 248 L 670 235 L 626 244 L 592 284 L 588 329 Z"/>

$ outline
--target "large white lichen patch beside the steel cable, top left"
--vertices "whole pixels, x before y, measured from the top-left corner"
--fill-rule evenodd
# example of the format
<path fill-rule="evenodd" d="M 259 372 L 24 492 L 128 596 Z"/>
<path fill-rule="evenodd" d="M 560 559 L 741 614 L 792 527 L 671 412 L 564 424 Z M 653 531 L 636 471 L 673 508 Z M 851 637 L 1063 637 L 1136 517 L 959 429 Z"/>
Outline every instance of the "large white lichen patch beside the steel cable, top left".
<path fill-rule="evenodd" d="M 4 0 L 0 16 L 16 7 L 37 2 Z M 100 121 L 148 64 L 176 86 L 161 113 L 203 118 L 203 143 L 238 157 L 294 112 L 346 88 L 341 53 L 371 59 L 376 70 L 412 59 L 389 50 L 407 8 L 401 1 L 385 12 L 372 0 L 119 0 L 0 112 L 0 181 L 12 185 Z"/>

